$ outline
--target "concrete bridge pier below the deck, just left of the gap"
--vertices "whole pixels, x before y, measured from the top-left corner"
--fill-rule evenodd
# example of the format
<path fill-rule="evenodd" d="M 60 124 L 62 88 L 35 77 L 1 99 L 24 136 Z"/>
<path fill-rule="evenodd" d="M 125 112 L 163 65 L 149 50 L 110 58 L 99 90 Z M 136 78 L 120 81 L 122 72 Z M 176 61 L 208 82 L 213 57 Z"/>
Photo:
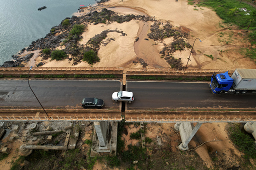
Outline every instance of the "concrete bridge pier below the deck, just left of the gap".
<path fill-rule="evenodd" d="M 94 133 L 90 157 L 95 157 L 99 153 L 109 153 L 116 155 L 117 122 L 93 122 Z"/>

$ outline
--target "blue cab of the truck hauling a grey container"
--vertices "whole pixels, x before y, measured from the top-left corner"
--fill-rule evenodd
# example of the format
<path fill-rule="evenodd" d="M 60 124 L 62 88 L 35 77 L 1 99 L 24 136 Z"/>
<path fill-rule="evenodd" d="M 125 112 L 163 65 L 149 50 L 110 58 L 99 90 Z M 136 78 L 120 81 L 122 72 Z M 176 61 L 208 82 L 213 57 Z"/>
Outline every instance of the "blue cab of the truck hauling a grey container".
<path fill-rule="evenodd" d="M 233 79 L 229 77 L 228 72 L 211 76 L 210 88 L 215 94 L 225 93 L 231 88 Z"/>

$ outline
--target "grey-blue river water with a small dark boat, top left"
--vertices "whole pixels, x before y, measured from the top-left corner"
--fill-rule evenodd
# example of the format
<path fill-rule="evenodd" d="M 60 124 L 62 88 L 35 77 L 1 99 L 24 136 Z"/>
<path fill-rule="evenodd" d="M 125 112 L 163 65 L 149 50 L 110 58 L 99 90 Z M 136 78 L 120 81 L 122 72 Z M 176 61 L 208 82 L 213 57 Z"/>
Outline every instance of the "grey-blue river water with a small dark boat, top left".
<path fill-rule="evenodd" d="M 0 0 L 0 65 L 95 0 Z M 41 11 L 37 8 L 46 6 Z"/>

